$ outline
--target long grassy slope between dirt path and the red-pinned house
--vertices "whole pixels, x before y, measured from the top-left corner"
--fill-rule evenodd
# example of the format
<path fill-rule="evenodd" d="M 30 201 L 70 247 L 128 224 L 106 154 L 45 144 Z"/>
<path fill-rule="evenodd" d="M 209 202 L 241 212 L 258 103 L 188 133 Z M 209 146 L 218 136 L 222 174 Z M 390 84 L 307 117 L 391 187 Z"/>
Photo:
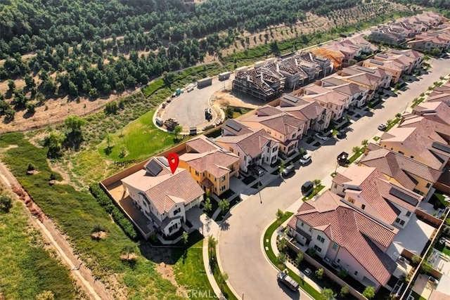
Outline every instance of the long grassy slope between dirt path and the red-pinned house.
<path fill-rule="evenodd" d="M 22 133 L 1 135 L 0 148 L 8 145 L 19 147 L 7 150 L 2 160 L 34 201 L 69 236 L 75 251 L 96 276 L 107 281 L 110 275 L 115 275 L 119 287 L 127 287 L 129 299 L 148 299 L 150 295 L 156 299 L 179 299 L 174 296 L 176 288 L 169 280 L 161 278 L 155 263 L 139 255 L 137 244 L 111 221 L 94 197 L 71 185 L 49 185 L 51 170 L 46 161 L 46 149 L 30 144 Z M 29 163 L 34 164 L 38 174 L 26 175 Z M 56 178 L 60 180 L 60 174 L 56 174 Z M 106 239 L 99 242 L 91 238 L 91 230 L 98 225 L 107 233 Z M 135 247 L 138 253 L 133 266 L 120 259 L 127 246 Z"/>

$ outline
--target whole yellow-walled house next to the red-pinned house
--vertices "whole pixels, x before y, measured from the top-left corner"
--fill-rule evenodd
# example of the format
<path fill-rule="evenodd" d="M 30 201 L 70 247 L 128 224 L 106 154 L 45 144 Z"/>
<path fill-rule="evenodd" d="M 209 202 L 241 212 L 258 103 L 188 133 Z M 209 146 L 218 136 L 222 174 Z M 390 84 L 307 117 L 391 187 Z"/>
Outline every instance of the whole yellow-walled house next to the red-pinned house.
<path fill-rule="evenodd" d="M 186 142 L 186 152 L 179 156 L 179 167 L 186 169 L 203 190 L 216 195 L 229 190 L 231 176 L 239 174 L 238 155 L 205 136 Z"/>

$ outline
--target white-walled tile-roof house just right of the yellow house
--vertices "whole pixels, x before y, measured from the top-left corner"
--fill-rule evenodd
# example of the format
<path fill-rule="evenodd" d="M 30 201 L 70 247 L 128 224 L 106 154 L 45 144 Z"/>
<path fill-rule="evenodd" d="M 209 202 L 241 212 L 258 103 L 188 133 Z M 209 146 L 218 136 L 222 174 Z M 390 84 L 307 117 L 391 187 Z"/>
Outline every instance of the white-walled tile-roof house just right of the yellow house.
<path fill-rule="evenodd" d="M 229 119 L 224 125 L 230 126 L 230 121 L 236 122 Z M 248 133 L 221 136 L 216 142 L 240 157 L 240 169 L 244 172 L 254 164 L 274 164 L 278 159 L 279 142 L 264 129 L 248 130 Z"/>

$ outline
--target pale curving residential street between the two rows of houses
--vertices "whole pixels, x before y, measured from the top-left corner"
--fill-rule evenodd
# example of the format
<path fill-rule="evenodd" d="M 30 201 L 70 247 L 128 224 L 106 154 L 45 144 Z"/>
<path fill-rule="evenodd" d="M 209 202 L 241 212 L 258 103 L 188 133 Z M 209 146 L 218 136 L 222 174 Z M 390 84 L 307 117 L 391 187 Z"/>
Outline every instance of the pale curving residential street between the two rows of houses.
<path fill-rule="evenodd" d="M 299 298 L 298 293 L 292 294 L 278 285 L 276 270 L 266 261 L 261 248 L 264 228 L 274 220 L 278 208 L 286 209 L 300 197 L 300 186 L 304 181 L 328 176 L 335 170 L 335 157 L 340 152 L 351 153 L 352 148 L 364 139 L 373 141 L 372 137 L 379 132 L 378 124 L 394 119 L 397 112 L 404 112 L 413 98 L 425 92 L 434 81 L 439 81 L 439 77 L 449 73 L 450 60 L 434 60 L 432 63 L 430 73 L 423 75 L 423 79 L 409 84 L 406 91 L 389 98 L 382 108 L 373 110 L 373 114 L 352 124 L 345 140 L 330 139 L 311 153 L 313 162 L 307 167 L 300 167 L 295 176 L 285 182 L 278 178 L 260 195 L 252 195 L 232 209 L 219 237 L 219 255 L 221 266 L 239 296 L 245 292 L 245 300 Z M 300 297 L 308 299 L 303 292 Z"/>

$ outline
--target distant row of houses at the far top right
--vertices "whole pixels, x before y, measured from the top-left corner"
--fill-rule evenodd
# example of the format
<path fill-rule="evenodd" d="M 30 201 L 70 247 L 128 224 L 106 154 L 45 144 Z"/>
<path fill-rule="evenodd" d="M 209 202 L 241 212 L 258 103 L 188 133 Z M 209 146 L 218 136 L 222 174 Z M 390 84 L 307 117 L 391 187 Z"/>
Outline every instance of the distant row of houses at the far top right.
<path fill-rule="evenodd" d="M 370 41 L 398 45 L 442 23 L 442 15 L 426 11 L 371 28 Z"/>

